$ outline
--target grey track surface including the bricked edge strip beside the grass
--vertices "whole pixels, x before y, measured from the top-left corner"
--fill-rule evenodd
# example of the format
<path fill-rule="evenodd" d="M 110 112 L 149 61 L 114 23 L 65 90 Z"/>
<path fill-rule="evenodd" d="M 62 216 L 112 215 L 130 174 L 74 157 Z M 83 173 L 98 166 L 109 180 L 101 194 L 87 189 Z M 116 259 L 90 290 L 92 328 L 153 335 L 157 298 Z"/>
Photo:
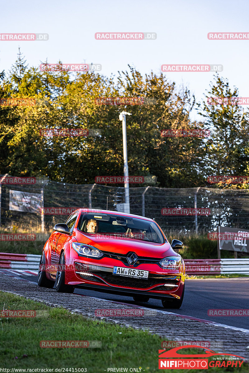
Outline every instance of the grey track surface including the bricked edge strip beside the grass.
<path fill-rule="evenodd" d="M 207 316 L 205 319 L 201 319 L 200 316 L 203 312 L 203 315 L 206 315 L 207 309 L 214 308 L 216 304 L 217 308 L 225 306 L 230 309 L 248 305 L 248 283 L 249 279 L 187 280 L 186 298 L 184 297 L 181 310 L 166 310 L 162 308 L 160 301 L 154 300 L 150 300 L 148 304 L 135 303 L 132 298 L 85 290 L 76 290 L 78 294 L 77 292 L 57 293 L 55 289 L 37 286 L 36 276 L 33 276 L 31 271 L 24 270 L 17 274 L 15 270 L 0 270 L 0 288 L 3 291 L 50 307 L 64 307 L 90 320 L 105 320 L 123 327 L 157 334 L 162 338 L 161 348 L 165 347 L 163 345 L 166 343 L 165 339 L 180 341 L 185 345 L 195 344 L 192 343 L 194 341 L 199 345 L 200 342 L 205 342 L 205 347 L 211 348 L 212 351 L 233 354 L 247 361 L 249 361 L 247 317 L 226 317 L 224 325 L 222 323 L 224 317 L 218 317 L 218 322 L 215 322 L 215 320 L 207 320 Z M 115 310 L 115 312 L 103 315 L 99 314 L 101 310 Z M 121 315 L 121 311 L 125 313 Z M 191 316 L 187 316 L 187 313 Z M 241 322 L 239 319 L 242 319 Z M 229 326 L 235 323 L 239 327 Z"/>

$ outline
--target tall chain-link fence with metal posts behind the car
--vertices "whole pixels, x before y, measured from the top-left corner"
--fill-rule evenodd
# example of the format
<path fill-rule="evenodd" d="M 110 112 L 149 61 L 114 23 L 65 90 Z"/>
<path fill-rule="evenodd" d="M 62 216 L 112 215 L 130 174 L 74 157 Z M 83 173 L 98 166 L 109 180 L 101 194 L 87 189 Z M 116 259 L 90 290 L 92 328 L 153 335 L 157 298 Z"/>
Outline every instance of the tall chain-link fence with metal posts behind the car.
<path fill-rule="evenodd" d="M 22 192 L 24 204 L 27 204 L 28 194 L 43 194 L 45 232 L 50 232 L 54 224 L 64 222 L 74 209 L 117 211 L 118 204 L 125 201 L 124 187 L 98 184 L 49 181 L 44 185 L 1 184 L 0 190 L 0 224 L 6 230 L 16 227 L 18 230 L 41 231 L 40 212 L 19 211 L 18 206 L 16 210 L 10 210 L 11 191 Z M 60 210 L 54 212 L 53 208 Z M 189 209 L 194 209 L 192 214 Z M 172 230 L 207 233 L 216 231 L 219 225 L 249 229 L 249 189 L 131 187 L 130 213 L 155 219 L 165 233 Z"/>

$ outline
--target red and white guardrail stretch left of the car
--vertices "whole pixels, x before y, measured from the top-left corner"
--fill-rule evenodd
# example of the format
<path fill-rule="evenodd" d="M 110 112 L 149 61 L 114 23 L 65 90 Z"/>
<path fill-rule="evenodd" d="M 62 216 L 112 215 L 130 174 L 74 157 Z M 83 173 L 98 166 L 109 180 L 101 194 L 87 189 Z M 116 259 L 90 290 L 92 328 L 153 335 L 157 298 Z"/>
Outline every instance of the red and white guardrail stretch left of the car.
<path fill-rule="evenodd" d="M 40 255 L 0 253 L 0 268 L 38 269 Z"/>

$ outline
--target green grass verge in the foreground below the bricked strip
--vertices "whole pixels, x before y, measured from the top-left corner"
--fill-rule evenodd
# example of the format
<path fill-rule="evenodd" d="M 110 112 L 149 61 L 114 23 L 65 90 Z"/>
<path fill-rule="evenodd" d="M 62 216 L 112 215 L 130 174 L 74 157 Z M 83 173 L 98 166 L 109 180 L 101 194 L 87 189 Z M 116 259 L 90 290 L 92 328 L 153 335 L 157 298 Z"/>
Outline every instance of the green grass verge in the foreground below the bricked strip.
<path fill-rule="evenodd" d="M 88 373 L 107 372 L 108 368 L 141 367 L 141 372 L 158 372 L 158 350 L 162 339 L 141 330 L 102 321 L 85 319 L 63 308 L 0 292 L 0 309 L 48 310 L 44 318 L 0 319 L 1 368 L 87 368 Z M 101 348 L 40 348 L 42 340 L 94 340 Z M 189 350 L 197 353 L 197 349 Z M 203 350 L 201 350 L 203 353 Z M 24 355 L 27 355 L 24 356 Z M 196 373 L 199 370 L 160 370 L 168 373 Z M 224 370 L 222 370 L 223 372 Z M 209 372 L 220 372 L 209 368 Z M 229 368 L 225 372 L 234 372 Z M 248 365 L 236 369 L 248 372 Z"/>

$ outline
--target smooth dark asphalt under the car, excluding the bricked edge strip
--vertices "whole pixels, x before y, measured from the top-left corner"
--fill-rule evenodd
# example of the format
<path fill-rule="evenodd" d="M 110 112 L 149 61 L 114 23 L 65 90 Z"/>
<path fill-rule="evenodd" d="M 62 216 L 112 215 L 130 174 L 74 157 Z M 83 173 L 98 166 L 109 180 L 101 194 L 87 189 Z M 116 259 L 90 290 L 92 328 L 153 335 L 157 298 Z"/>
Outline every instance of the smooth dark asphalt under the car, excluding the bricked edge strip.
<path fill-rule="evenodd" d="M 37 282 L 36 276 L 20 276 L 32 282 Z M 249 316 L 208 316 L 209 309 L 248 309 L 249 308 L 249 278 L 234 279 L 187 279 L 184 301 L 178 309 L 166 309 L 157 299 L 149 302 L 134 302 L 132 297 L 107 294 L 85 289 L 75 289 L 75 294 L 86 295 L 105 300 L 112 300 L 131 305 L 139 305 L 152 310 L 165 310 L 181 315 L 192 316 L 216 323 L 249 329 Z"/>

